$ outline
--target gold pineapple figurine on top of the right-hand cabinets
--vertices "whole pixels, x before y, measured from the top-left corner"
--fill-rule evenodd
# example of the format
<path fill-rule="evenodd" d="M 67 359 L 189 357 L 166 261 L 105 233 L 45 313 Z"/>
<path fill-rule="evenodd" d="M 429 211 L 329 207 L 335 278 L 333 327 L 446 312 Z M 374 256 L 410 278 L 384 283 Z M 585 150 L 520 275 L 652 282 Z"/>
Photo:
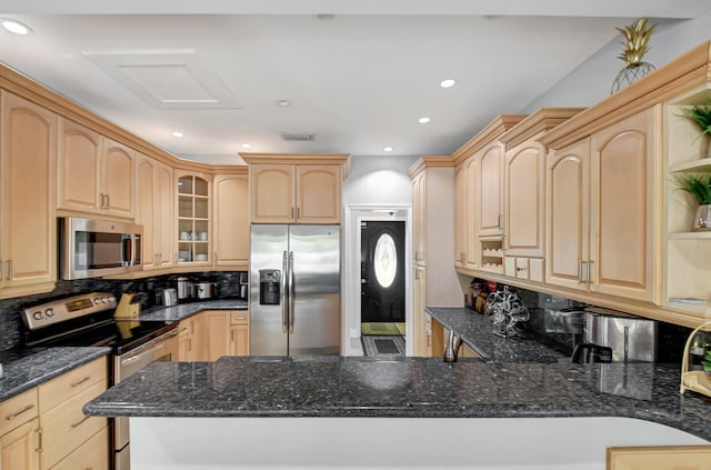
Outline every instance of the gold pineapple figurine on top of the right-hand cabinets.
<path fill-rule="evenodd" d="M 622 59 L 625 66 L 612 82 L 611 94 L 654 70 L 654 66 L 642 61 L 642 57 L 649 51 L 649 38 L 654 28 L 657 24 L 650 26 L 647 18 L 640 18 L 632 26 L 615 28 L 624 36 L 624 52 L 618 58 Z"/>

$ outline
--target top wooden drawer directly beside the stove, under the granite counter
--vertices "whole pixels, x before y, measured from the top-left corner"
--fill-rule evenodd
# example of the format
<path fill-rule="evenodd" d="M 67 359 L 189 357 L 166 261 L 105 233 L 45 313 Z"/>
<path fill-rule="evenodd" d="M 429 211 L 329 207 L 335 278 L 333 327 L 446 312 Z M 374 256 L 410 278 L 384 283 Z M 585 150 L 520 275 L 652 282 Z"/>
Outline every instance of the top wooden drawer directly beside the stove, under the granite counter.
<path fill-rule="evenodd" d="M 81 393 L 94 383 L 107 382 L 107 359 L 99 358 L 39 386 L 41 412 Z"/>

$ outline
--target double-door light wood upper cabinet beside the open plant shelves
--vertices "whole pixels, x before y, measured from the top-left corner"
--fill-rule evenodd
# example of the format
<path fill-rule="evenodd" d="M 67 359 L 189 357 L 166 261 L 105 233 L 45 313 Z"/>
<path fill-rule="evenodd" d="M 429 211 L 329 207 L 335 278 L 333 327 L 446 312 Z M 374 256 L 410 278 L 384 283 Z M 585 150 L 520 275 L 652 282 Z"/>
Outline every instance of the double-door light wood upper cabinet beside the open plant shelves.
<path fill-rule="evenodd" d="M 549 156 L 548 283 L 658 300 L 658 114 L 640 112 Z"/>

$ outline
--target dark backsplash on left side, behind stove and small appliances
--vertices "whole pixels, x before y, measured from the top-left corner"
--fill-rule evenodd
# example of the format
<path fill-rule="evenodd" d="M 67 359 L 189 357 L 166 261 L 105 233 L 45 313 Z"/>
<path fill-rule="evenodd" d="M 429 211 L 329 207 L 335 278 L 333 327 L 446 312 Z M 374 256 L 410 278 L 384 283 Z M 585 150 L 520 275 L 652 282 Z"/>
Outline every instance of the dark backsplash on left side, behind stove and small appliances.
<path fill-rule="evenodd" d="M 176 279 L 179 276 L 186 276 L 192 281 L 216 282 L 214 297 L 218 299 L 236 298 L 240 294 L 240 276 L 242 273 L 243 271 L 208 271 L 157 276 L 137 280 L 101 278 L 73 281 L 59 280 L 52 292 L 0 300 L 0 351 L 20 346 L 22 332 L 24 331 L 20 312 L 32 304 L 88 292 L 111 292 L 117 299 L 126 292 L 142 292 L 143 294 L 137 296 L 134 301 L 140 302 L 142 309 L 147 309 L 154 306 L 154 290 L 176 287 Z"/>

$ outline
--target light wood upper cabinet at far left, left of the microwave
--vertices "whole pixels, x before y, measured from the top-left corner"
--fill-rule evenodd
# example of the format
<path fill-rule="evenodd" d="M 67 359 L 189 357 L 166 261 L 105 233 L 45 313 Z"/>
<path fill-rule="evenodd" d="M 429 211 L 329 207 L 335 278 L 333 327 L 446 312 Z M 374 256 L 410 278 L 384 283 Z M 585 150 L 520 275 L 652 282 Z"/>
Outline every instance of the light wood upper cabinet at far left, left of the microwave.
<path fill-rule="evenodd" d="M 57 279 L 57 116 L 0 92 L 0 298 Z"/>

